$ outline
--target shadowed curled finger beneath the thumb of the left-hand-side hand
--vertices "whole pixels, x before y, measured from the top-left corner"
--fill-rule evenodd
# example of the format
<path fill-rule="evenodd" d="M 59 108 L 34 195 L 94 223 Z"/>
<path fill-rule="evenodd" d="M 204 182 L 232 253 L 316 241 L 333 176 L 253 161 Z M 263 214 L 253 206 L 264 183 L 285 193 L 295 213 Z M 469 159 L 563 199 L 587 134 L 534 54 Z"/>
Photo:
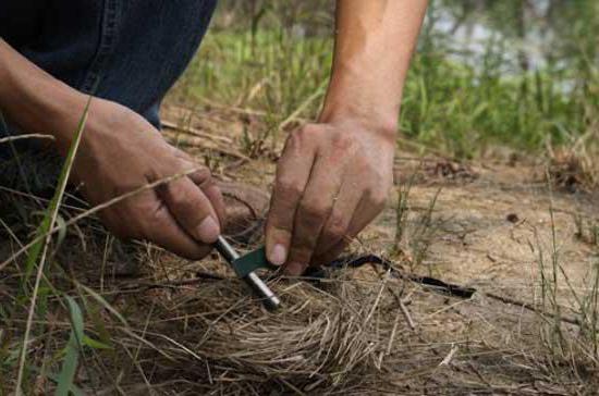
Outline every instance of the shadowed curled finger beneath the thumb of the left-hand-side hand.
<path fill-rule="evenodd" d="M 163 203 L 152 213 L 151 224 L 146 226 L 144 234 L 148 242 L 190 260 L 199 260 L 211 250 L 209 245 L 194 240 Z"/>

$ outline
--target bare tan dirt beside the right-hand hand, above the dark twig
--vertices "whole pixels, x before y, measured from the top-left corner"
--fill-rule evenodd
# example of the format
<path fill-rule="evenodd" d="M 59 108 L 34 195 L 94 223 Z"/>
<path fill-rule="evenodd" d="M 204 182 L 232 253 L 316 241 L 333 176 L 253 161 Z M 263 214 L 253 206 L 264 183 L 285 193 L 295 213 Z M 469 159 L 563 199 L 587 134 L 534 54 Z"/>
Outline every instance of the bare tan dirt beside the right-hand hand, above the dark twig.
<path fill-rule="evenodd" d="M 192 110 L 172 107 L 164 113 L 173 124 L 194 128 Z M 237 125 L 237 131 L 231 129 L 231 125 L 235 123 L 228 124 L 229 131 L 220 134 L 223 140 L 216 143 L 225 148 L 225 154 L 231 150 L 227 144 L 239 141 L 243 131 L 243 125 Z M 198 120 L 195 127 L 200 131 L 206 125 Z M 201 137 L 190 139 L 180 132 L 170 132 L 169 136 L 191 151 L 194 145 L 205 141 Z M 276 147 L 280 148 L 280 143 Z M 435 200 L 420 271 L 529 300 L 539 283 L 539 253 L 546 256 L 549 265 L 555 240 L 557 259 L 572 285 L 584 287 L 599 253 L 590 235 L 591 228 L 599 224 L 599 191 L 569 191 L 550 186 L 542 162 L 514 160 L 513 153 L 504 157 L 459 164 L 433 156 L 398 152 L 396 187 L 386 211 L 363 234 L 363 245 L 375 252 L 391 252 L 395 245 L 399 191 L 412 184 L 407 187 L 407 228 L 423 227 L 421 218 Z M 217 166 L 221 178 L 269 190 L 274 161 L 264 157 L 247 162 L 233 159 L 232 164 Z M 421 230 L 413 231 L 417 235 L 407 233 L 401 242 L 408 250 L 420 243 L 411 239 L 423 236 Z M 564 297 L 570 295 L 565 292 Z"/>

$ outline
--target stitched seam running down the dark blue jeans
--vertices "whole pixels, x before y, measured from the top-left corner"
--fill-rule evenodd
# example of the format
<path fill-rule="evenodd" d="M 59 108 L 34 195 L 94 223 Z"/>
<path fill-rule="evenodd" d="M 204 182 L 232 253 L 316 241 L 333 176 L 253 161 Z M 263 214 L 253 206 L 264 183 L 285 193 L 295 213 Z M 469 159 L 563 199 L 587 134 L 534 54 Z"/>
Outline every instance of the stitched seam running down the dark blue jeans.
<path fill-rule="evenodd" d="M 94 94 L 101 78 L 102 67 L 114 52 L 119 30 L 118 24 L 121 16 L 121 0 L 105 0 L 100 42 L 98 50 L 82 84 L 81 90 L 85 94 Z"/>

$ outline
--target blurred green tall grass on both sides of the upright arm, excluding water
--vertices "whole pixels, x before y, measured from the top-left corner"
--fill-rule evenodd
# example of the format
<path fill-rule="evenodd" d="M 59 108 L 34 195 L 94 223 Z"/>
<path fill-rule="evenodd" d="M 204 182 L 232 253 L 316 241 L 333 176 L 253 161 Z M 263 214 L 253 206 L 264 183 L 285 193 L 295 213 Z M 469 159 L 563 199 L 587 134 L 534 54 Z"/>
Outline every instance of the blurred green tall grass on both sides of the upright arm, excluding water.
<path fill-rule="evenodd" d="M 523 70 L 505 54 L 513 39 L 494 35 L 477 61 L 468 62 L 475 54 L 457 57 L 456 45 L 439 37 L 433 22 L 429 15 L 398 114 L 407 137 L 473 158 L 498 145 L 533 152 L 572 145 L 597 128 L 599 72 L 583 45 L 596 27 L 578 28 L 580 46 L 559 62 Z M 306 35 L 296 28 L 305 23 L 297 17 L 290 26 L 269 22 L 245 30 L 213 29 L 176 95 L 265 111 L 274 123 L 284 120 L 330 71 L 332 28 Z M 315 101 L 301 115 L 314 119 L 318 110 Z"/>

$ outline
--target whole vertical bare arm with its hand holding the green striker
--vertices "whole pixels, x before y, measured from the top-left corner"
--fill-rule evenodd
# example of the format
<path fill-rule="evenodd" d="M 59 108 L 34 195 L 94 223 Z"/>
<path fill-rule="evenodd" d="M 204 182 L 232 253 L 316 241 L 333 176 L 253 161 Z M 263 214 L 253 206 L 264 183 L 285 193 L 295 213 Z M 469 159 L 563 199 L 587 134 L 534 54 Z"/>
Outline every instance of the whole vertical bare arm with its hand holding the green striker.
<path fill-rule="evenodd" d="M 289 137 L 267 220 L 288 273 L 334 258 L 384 206 L 404 79 L 426 0 L 338 0 L 331 82 L 319 123 Z"/>

